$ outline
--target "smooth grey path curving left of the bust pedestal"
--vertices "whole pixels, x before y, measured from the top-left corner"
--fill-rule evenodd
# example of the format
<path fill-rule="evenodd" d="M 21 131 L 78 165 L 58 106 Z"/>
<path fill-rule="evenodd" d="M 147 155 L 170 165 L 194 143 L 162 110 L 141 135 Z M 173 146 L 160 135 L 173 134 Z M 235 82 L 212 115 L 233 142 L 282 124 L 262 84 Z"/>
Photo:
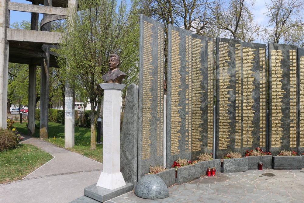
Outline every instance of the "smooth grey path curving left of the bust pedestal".
<path fill-rule="evenodd" d="M 22 136 L 22 143 L 33 144 L 54 158 L 23 180 L 0 184 L 1 203 L 70 202 L 81 197 L 85 187 L 97 183 L 101 163 L 41 139 Z"/>

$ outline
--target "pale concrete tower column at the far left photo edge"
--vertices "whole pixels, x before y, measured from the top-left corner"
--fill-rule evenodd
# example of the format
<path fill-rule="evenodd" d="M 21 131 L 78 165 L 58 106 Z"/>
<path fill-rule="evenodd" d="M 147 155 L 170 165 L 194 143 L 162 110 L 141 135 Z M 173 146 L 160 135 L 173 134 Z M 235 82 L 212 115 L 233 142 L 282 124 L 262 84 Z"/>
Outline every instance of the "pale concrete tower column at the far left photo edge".
<path fill-rule="evenodd" d="M 9 0 L 0 1 L 0 127 L 6 129 L 7 80 L 9 68 L 9 42 L 6 28 L 9 27 Z"/>

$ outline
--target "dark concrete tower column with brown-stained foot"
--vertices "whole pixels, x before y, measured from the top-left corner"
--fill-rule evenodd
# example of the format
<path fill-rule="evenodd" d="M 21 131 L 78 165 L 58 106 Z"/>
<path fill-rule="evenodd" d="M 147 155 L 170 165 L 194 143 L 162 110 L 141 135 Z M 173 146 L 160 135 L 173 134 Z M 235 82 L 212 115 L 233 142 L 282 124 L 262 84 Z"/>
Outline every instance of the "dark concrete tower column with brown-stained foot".
<path fill-rule="evenodd" d="M 44 0 L 44 6 L 52 6 L 52 0 Z M 46 17 L 48 14 L 43 14 Z M 50 23 L 43 26 L 42 31 L 51 31 Z M 49 70 L 50 45 L 42 45 L 44 51 L 41 63 L 40 86 L 40 138 L 48 138 L 48 108 L 49 108 Z"/>

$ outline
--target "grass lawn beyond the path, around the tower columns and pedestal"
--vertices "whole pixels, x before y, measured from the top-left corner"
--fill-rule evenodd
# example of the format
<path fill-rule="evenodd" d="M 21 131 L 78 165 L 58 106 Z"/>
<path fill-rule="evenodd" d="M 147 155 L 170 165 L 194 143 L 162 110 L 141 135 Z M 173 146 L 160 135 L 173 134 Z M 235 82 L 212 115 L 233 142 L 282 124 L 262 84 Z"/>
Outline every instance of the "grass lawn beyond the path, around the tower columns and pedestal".
<path fill-rule="evenodd" d="M 38 124 L 39 121 L 36 121 Z M 15 122 L 13 124 L 16 127 L 16 130 L 22 134 L 27 134 L 27 122 Z M 39 138 L 39 129 L 36 129 L 34 137 Z M 96 130 L 96 142 L 97 142 L 97 130 Z M 48 123 L 48 139 L 45 139 L 47 142 L 51 142 L 60 147 L 64 147 L 64 125 L 58 124 L 55 122 L 49 121 Z M 102 142 L 102 138 L 101 138 Z M 94 159 L 100 163 L 102 163 L 102 145 L 96 144 L 96 149 L 90 149 L 91 143 L 91 129 L 84 127 L 75 127 L 75 146 L 73 148 L 69 148 L 72 152 L 77 152 L 83 156 L 89 157 L 90 159 Z"/>

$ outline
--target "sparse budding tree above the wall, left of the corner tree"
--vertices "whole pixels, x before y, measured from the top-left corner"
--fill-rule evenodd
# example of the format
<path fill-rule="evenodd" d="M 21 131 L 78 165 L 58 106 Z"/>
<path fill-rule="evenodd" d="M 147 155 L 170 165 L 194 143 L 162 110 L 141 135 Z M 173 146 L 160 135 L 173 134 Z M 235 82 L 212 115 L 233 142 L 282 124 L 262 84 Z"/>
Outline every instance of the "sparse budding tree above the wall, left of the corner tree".
<path fill-rule="evenodd" d="M 220 30 L 226 30 L 222 37 L 254 41 L 260 26 L 254 23 L 250 5 L 245 0 L 218 0 L 214 9 L 215 23 Z"/>

